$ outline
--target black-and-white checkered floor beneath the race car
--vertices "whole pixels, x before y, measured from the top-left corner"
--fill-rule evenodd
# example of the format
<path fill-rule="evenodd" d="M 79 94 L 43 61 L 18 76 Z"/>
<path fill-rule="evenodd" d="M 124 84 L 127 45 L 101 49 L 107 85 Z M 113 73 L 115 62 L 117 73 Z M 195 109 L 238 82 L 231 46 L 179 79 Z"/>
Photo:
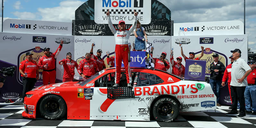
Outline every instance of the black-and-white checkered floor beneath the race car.
<path fill-rule="evenodd" d="M 245 118 L 225 115 L 228 106 L 200 112 L 182 112 L 174 122 L 156 121 L 86 121 L 86 120 L 30 120 L 22 118 L 24 106 L 0 103 L 0 128 L 256 128 L 256 115 Z"/>

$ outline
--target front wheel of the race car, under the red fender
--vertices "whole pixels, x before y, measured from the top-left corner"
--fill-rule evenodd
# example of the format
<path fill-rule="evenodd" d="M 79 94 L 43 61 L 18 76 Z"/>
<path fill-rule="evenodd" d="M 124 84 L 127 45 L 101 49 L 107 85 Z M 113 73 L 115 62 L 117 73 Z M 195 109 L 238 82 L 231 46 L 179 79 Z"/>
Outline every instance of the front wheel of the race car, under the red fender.
<path fill-rule="evenodd" d="M 61 119 L 67 111 L 66 102 L 57 95 L 47 95 L 41 100 L 40 113 L 49 120 Z"/>

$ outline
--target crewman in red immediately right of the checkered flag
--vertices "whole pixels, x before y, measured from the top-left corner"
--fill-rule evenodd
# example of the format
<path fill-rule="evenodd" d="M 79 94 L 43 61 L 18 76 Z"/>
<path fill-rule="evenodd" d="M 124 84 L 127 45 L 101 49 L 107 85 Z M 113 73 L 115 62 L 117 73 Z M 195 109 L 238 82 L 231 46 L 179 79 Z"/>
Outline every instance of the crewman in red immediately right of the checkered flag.
<path fill-rule="evenodd" d="M 170 68 L 170 63 L 165 61 L 166 52 L 163 52 L 160 58 L 153 58 L 154 68 L 162 71 L 167 71 Z"/>

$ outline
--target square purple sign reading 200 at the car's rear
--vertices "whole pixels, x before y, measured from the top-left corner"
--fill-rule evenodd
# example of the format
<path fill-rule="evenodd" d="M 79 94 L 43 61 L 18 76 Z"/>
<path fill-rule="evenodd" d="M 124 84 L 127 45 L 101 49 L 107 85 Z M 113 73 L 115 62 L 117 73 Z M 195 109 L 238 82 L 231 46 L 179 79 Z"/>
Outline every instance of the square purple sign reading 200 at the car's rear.
<path fill-rule="evenodd" d="M 186 59 L 185 80 L 205 81 L 206 61 Z"/>

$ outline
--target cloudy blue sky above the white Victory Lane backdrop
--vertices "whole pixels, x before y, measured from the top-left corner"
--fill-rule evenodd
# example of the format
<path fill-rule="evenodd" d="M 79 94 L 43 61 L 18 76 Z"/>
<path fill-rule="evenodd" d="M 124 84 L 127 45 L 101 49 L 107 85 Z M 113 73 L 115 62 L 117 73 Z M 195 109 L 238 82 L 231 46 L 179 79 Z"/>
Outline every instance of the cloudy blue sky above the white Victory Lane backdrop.
<path fill-rule="evenodd" d="M 4 20 L 8 18 L 72 22 L 79 0 L 4 0 Z M 243 0 L 158 0 L 171 10 L 174 23 L 243 20 Z M 0 2 L 2 5 L 2 1 Z M 246 0 L 245 33 L 248 47 L 256 52 L 256 2 Z M 1 13 L 2 18 L 2 13 Z M 2 20 L 2 19 L 1 19 Z M 2 22 L 0 22 L 0 28 Z"/>

